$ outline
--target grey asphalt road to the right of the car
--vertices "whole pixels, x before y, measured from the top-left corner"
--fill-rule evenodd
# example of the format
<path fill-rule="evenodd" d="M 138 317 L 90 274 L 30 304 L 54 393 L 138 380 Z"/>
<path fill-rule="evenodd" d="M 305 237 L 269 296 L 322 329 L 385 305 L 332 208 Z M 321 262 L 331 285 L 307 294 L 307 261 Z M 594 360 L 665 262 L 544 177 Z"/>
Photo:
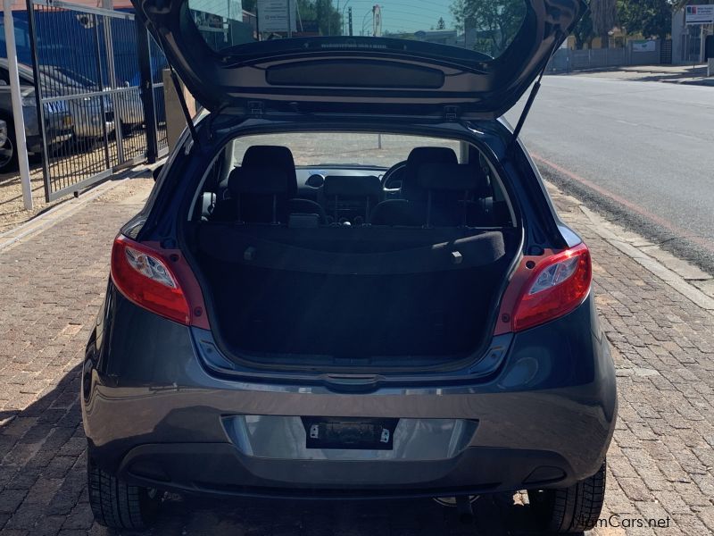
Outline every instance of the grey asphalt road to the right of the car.
<path fill-rule="evenodd" d="M 548 76 L 521 136 L 545 179 L 714 273 L 714 88 Z"/>

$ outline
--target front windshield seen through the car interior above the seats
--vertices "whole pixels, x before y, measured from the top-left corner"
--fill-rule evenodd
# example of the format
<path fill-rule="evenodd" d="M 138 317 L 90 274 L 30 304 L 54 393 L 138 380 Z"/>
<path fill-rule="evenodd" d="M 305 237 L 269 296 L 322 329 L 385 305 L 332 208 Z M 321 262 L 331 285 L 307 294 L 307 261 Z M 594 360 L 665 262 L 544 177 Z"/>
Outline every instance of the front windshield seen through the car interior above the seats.
<path fill-rule="evenodd" d="M 310 132 L 245 136 L 233 141 L 233 163 L 240 165 L 248 147 L 283 146 L 296 166 L 330 164 L 390 167 L 407 159 L 414 147 L 450 147 L 459 155 L 459 142 L 444 138 L 377 133 Z"/>

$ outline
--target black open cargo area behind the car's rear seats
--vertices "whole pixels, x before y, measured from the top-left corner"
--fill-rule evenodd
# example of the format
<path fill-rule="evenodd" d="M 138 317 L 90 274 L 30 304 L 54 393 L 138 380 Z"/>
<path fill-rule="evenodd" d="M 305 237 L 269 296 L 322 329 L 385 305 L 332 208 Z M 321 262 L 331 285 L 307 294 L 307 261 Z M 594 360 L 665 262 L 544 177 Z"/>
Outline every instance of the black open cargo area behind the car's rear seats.
<path fill-rule="evenodd" d="M 212 330 L 234 357 L 438 364 L 493 331 L 519 231 L 196 222 Z"/>

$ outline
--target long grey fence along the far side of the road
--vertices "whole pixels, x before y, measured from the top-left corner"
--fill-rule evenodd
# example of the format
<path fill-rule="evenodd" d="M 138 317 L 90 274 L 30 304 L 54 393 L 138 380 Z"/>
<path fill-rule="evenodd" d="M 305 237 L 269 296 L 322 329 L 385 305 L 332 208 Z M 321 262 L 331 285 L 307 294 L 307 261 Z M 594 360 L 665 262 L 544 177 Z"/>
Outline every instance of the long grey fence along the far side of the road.
<path fill-rule="evenodd" d="M 643 46 L 644 45 L 644 46 Z M 662 41 L 628 42 L 619 48 L 570 50 L 559 48 L 548 64 L 549 72 L 584 71 L 626 65 L 654 65 L 662 61 Z"/>

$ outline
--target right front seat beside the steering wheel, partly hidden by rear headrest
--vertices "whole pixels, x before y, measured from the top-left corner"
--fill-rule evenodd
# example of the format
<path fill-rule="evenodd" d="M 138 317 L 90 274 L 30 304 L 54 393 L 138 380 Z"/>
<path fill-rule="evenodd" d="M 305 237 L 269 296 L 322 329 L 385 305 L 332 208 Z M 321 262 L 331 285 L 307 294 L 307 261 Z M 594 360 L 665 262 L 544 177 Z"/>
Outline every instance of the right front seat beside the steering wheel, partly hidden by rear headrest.
<path fill-rule="evenodd" d="M 449 147 L 414 147 L 405 164 L 401 199 L 387 199 L 374 207 L 372 225 L 424 225 L 427 214 L 427 189 L 419 182 L 419 168 L 426 163 L 457 164 L 459 159 Z"/>

